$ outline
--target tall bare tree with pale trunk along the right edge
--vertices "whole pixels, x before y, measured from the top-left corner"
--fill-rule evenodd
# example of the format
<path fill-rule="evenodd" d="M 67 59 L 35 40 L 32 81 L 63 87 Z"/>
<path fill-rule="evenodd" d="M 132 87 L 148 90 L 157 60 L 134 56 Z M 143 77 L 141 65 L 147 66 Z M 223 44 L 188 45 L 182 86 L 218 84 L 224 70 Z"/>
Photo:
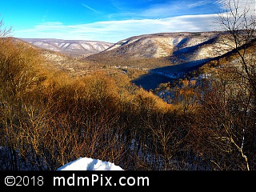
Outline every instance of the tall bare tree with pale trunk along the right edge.
<path fill-rule="evenodd" d="M 247 135 L 254 135 L 255 128 L 255 117 L 256 117 L 256 70 L 255 70 L 255 40 L 256 40 L 256 20 L 255 20 L 255 2 L 250 1 L 244 4 L 241 0 L 228 0 L 225 3 L 226 9 L 219 14 L 218 22 L 222 26 L 223 42 L 225 45 L 230 46 L 234 50 L 234 54 L 237 56 L 230 64 L 228 69 L 224 72 L 232 73 L 233 77 L 240 79 L 242 86 L 233 87 L 233 93 L 238 93 L 241 89 L 246 88 L 244 93 L 246 93 L 246 103 L 235 100 L 235 102 L 240 103 L 240 110 L 244 111 L 244 123 L 241 126 L 242 133 L 234 135 L 230 134 L 230 137 L 222 137 L 222 139 L 227 139 L 230 143 L 234 145 L 234 148 L 239 151 L 242 158 L 246 162 L 246 170 L 250 170 L 250 162 L 246 156 L 246 152 L 250 153 L 249 147 L 245 152 L 245 143 L 247 146 L 254 146 L 254 137 L 246 138 Z M 252 6 L 254 5 L 254 6 Z M 229 64 L 229 65 L 230 65 Z M 241 84 L 241 83 L 240 83 Z M 235 90 L 235 91 L 234 91 Z M 233 115 L 232 115 L 233 116 Z M 233 122 L 230 124 L 229 130 L 234 128 Z M 239 138 L 239 139 L 234 139 Z M 250 158 L 255 158 L 252 154 Z M 252 162 L 253 160 L 251 160 Z"/>

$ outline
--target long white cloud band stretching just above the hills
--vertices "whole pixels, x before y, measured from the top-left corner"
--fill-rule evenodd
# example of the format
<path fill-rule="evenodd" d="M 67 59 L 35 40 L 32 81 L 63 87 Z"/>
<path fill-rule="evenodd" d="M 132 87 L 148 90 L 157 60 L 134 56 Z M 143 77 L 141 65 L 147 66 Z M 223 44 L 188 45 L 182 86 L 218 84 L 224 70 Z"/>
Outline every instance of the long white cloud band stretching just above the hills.
<path fill-rule="evenodd" d="M 17 38 L 62 38 L 118 42 L 140 34 L 181 31 L 218 30 L 216 14 L 186 15 L 161 19 L 92 22 L 66 26 L 62 22 L 45 22 L 29 30 L 14 30 Z"/>

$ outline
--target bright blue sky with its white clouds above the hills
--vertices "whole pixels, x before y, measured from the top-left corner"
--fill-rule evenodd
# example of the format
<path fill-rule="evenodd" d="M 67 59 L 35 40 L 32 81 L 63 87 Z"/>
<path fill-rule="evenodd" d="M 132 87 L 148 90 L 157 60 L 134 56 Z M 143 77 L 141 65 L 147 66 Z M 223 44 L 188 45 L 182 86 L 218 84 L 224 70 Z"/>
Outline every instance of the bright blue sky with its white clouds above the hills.
<path fill-rule="evenodd" d="M 245 0 L 240 0 L 245 1 Z M 250 0 L 254 1 L 254 0 Z M 225 0 L 1 0 L 17 38 L 118 42 L 139 34 L 218 30 Z"/>

